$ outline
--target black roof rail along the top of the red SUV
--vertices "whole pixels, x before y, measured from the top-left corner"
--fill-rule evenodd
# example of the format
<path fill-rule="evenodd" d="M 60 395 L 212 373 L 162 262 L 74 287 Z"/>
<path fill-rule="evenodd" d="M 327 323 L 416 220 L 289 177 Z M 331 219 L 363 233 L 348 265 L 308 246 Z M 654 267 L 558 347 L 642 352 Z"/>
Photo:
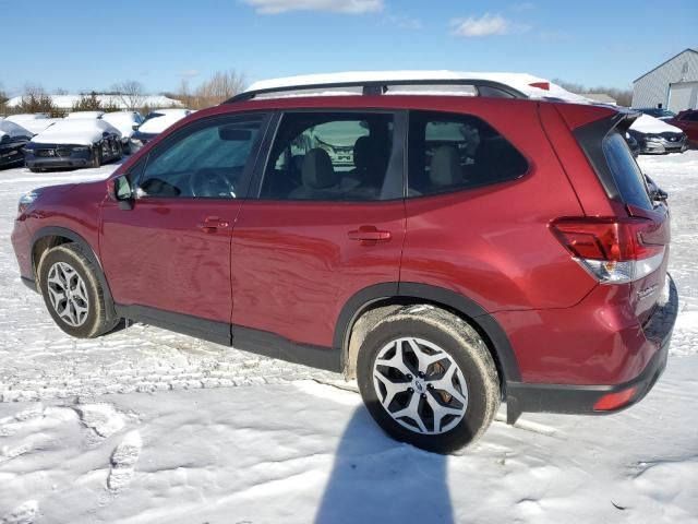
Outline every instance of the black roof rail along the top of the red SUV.
<path fill-rule="evenodd" d="M 336 90 L 342 87 L 361 87 L 362 95 L 383 95 L 389 91 L 392 86 L 442 86 L 442 85 L 464 85 L 472 86 L 478 96 L 486 96 L 492 98 L 528 98 L 520 91 L 506 85 L 502 82 L 495 82 L 483 79 L 418 79 L 418 80 L 370 80 L 370 81 L 349 81 L 349 82 L 328 82 L 299 85 L 280 85 L 276 87 L 267 87 L 261 90 L 250 90 L 240 93 L 232 98 L 227 99 L 224 104 L 234 104 L 255 98 L 258 95 L 273 93 L 289 93 L 293 91 L 321 91 Z M 312 96 L 312 95 L 308 95 Z"/>

